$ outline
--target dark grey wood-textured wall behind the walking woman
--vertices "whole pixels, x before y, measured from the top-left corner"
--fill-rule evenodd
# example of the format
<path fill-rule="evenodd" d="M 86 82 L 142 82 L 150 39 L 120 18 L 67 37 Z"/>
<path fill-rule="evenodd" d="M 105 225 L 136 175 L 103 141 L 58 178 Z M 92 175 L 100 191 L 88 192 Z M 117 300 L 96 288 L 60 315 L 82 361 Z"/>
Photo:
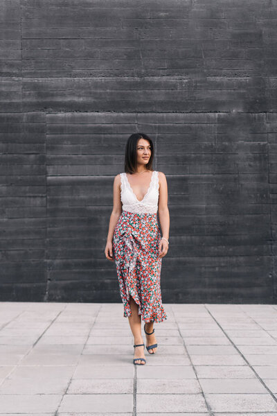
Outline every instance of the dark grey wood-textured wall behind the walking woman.
<path fill-rule="evenodd" d="M 0 11 L 0 300 L 120 302 L 104 250 L 139 131 L 168 179 L 163 302 L 276 302 L 276 1 Z"/>

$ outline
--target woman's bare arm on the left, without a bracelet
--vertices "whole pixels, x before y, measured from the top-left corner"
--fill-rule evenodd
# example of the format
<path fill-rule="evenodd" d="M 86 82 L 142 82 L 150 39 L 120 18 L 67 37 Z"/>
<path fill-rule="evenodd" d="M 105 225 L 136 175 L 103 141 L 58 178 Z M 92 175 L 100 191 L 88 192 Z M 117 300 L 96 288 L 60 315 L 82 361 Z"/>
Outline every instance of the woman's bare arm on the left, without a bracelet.
<path fill-rule="evenodd" d="M 112 252 L 112 239 L 114 236 L 114 229 L 118 218 L 122 212 L 122 202 L 120 200 L 120 175 L 116 175 L 114 178 L 114 207 L 111 211 L 111 216 L 109 218 L 109 232 L 107 235 L 107 243 L 105 247 L 105 255 L 108 260 L 114 261 L 113 252 Z"/>

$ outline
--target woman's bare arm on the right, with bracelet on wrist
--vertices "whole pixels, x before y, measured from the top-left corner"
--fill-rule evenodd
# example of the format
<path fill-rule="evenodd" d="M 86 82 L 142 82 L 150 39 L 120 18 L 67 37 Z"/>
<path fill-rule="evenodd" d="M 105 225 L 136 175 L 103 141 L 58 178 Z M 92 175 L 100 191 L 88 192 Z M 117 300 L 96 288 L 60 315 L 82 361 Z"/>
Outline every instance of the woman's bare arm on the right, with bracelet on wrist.
<path fill-rule="evenodd" d="M 170 227 L 170 216 L 168 210 L 168 183 L 166 181 L 166 175 L 163 172 L 159 172 L 159 221 L 161 224 L 161 233 L 164 239 L 159 242 L 159 257 L 166 256 L 168 252 L 169 239 L 169 227 Z M 166 239 L 166 240 L 165 240 Z"/>

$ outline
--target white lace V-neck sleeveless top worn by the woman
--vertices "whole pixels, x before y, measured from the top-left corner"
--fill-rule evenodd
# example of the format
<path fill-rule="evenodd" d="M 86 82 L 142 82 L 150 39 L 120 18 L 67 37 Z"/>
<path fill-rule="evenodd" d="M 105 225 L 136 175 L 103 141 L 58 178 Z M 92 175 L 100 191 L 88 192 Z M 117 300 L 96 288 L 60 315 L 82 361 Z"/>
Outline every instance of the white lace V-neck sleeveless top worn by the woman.
<path fill-rule="evenodd" d="M 134 191 L 125 172 L 120 173 L 121 191 L 120 198 L 124 211 L 134 212 L 135 214 L 155 214 L 158 211 L 159 200 L 159 172 L 153 171 L 150 186 L 141 201 L 136 198 Z"/>

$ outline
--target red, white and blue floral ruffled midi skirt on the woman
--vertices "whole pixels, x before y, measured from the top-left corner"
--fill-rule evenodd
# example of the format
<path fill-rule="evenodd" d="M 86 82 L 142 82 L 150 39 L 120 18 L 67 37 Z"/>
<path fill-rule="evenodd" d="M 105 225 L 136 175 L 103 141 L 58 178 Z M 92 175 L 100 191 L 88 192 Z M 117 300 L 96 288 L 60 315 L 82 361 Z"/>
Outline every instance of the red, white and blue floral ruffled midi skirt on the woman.
<path fill-rule="evenodd" d="M 132 315 L 132 296 L 145 322 L 168 318 L 161 302 L 160 240 L 157 214 L 122 211 L 114 229 L 113 255 L 125 317 Z"/>

